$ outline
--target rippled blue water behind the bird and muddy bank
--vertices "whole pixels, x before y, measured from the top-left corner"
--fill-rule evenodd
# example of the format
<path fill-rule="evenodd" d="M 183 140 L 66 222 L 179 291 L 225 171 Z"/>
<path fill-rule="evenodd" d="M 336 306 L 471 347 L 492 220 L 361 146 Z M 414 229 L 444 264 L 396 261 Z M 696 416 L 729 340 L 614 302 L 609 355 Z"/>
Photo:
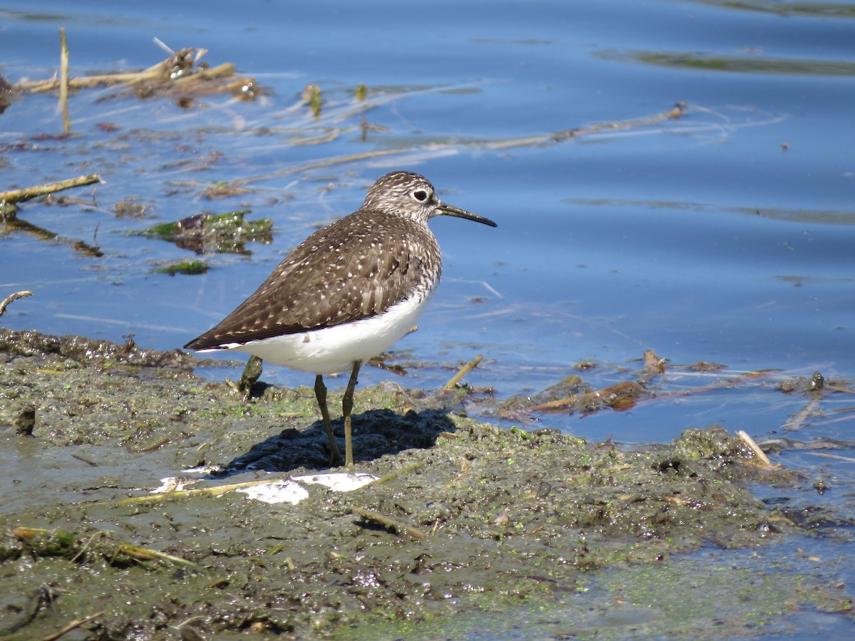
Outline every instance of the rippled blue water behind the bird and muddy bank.
<path fill-rule="evenodd" d="M 3 324 L 113 340 L 133 333 L 145 347 L 178 347 L 233 309 L 315 226 L 356 209 L 377 176 L 407 168 L 499 226 L 433 221 L 444 282 L 420 331 L 395 352 L 429 367 L 412 369 L 402 385 L 439 385 L 476 354 L 486 361 L 467 380 L 500 399 L 540 391 L 581 361 L 598 364 L 584 374 L 593 385 L 610 385 L 631 379 L 617 368 L 639 368 L 634 359 L 647 349 L 673 364 L 722 363 L 730 374 L 775 368 L 851 379 L 855 20 L 846 12 L 852 4 L 761 0 L 0 2 L 0 74 L 13 82 L 54 73 L 65 26 L 73 74 L 149 67 L 165 57 L 157 37 L 174 49 L 207 48 L 212 65 L 234 62 L 264 87 L 254 103 L 214 95 L 189 110 L 82 91 L 70 101 L 71 138 L 36 138 L 62 131 L 56 97 L 13 103 L 0 115 L 3 188 L 93 171 L 107 181 L 89 206 L 27 203 L 19 216 L 63 238 L 96 238 L 104 256 L 0 232 L 0 293 L 36 294 L 10 306 Z M 364 111 L 352 97 L 359 83 L 373 105 Z M 326 101 L 319 120 L 295 107 L 308 84 Z M 681 119 L 641 122 L 678 102 L 687 104 Z M 381 128 L 365 140 L 363 115 Z M 626 121 L 635 124 L 498 145 Z M 115 132 L 104 132 L 105 122 Z M 315 144 L 296 144 L 307 137 Z M 281 168 L 297 170 L 257 180 L 239 197 L 201 196 L 205 181 Z M 67 195 L 91 201 L 92 191 Z M 147 218 L 115 217 L 128 197 Z M 128 235 L 243 207 L 274 220 L 274 243 L 250 245 L 251 256 L 205 256 L 203 275 L 150 273 L 192 255 Z M 367 368 L 361 380 L 390 376 Z M 720 376 L 671 374 L 668 384 Z M 264 378 L 310 382 L 276 368 Z M 540 424 L 627 443 L 712 422 L 764 438 L 807 402 L 757 384 Z M 851 406 L 846 394 L 823 402 L 834 416 Z M 808 421 L 790 437 L 852 441 L 852 432 L 852 420 Z M 851 463 L 787 464 L 841 473 L 852 490 L 843 473 Z"/>

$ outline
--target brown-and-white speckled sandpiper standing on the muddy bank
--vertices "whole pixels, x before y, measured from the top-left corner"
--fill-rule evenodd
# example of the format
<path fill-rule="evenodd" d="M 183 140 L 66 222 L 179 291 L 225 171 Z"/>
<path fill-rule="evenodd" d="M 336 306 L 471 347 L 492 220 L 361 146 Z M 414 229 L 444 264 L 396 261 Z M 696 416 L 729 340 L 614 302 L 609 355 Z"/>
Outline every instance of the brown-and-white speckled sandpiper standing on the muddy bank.
<path fill-rule="evenodd" d="M 363 362 L 410 331 L 439 283 L 442 255 L 428 227 L 436 215 L 496 226 L 439 200 L 418 173 L 392 172 L 369 189 L 363 206 L 306 238 L 219 325 L 185 345 L 239 350 L 315 373 L 315 397 L 341 462 L 323 374 L 351 370 L 342 400 L 345 465 L 353 465 L 353 390 Z"/>

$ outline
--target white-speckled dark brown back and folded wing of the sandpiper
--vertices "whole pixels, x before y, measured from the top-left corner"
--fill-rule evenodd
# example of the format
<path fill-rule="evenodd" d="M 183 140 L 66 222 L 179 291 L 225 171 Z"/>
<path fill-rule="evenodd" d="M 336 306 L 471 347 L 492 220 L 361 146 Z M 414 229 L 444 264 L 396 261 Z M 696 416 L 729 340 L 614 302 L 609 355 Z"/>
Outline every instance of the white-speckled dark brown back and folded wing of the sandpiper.
<path fill-rule="evenodd" d="M 425 272 L 439 276 L 439 245 L 427 226 L 359 211 L 313 233 L 251 297 L 185 347 L 322 329 L 380 314 L 408 297 Z"/>

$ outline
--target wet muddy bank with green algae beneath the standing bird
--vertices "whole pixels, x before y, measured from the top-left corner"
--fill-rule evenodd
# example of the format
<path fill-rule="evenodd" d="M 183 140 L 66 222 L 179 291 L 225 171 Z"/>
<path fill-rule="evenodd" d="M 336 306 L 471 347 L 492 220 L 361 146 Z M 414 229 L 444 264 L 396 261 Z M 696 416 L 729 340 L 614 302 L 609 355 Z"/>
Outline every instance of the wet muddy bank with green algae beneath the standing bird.
<path fill-rule="evenodd" d="M 748 490 L 793 473 L 721 427 L 628 451 L 375 385 L 374 480 L 266 503 L 246 488 L 328 471 L 314 392 L 245 399 L 200 364 L 0 330 L 3 638 L 720 638 L 850 611 L 844 586 L 716 562 L 807 533 Z"/>

